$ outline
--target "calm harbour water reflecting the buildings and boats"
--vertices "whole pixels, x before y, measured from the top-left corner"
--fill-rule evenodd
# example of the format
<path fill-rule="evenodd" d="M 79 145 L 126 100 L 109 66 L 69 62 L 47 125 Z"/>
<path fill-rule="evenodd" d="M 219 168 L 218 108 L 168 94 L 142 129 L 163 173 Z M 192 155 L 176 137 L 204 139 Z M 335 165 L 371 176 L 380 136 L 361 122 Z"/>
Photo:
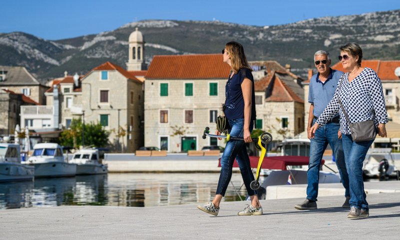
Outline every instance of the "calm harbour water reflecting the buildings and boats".
<path fill-rule="evenodd" d="M 0 183 L 0 209 L 60 205 L 163 206 L 209 201 L 219 173 L 109 173 Z M 232 174 L 240 187 L 240 173 Z M 244 197 L 244 186 L 239 191 Z M 225 201 L 240 200 L 229 184 Z"/>

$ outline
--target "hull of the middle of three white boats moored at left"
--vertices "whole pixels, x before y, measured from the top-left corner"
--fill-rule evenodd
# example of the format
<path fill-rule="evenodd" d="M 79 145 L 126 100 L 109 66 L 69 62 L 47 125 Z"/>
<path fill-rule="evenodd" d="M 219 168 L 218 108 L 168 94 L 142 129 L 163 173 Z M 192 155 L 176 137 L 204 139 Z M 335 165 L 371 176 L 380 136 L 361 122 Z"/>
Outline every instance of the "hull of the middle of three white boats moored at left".
<path fill-rule="evenodd" d="M 76 164 L 66 162 L 34 163 L 35 177 L 67 177 L 76 174 Z"/>

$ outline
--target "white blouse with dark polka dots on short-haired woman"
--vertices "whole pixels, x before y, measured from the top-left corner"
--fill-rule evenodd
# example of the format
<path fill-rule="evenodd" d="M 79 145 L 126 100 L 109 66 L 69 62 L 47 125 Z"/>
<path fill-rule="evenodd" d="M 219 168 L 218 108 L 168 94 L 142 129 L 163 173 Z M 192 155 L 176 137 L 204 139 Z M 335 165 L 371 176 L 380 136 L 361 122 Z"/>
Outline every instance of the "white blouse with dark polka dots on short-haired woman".
<path fill-rule="evenodd" d="M 334 96 L 325 110 L 316 120 L 319 126 L 325 125 L 337 113 L 340 114 L 340 131 L 351 134 L 346 117 L 337 101 L 339 96 L 347 117 L 351 123 L 373 120 L 387 123 L 387 113 L 383 97 L 382 84 L 378 75 L 370 68 L 364 68 L 356 78 L 348 82 L 348 73 L 341 75 Z"/>

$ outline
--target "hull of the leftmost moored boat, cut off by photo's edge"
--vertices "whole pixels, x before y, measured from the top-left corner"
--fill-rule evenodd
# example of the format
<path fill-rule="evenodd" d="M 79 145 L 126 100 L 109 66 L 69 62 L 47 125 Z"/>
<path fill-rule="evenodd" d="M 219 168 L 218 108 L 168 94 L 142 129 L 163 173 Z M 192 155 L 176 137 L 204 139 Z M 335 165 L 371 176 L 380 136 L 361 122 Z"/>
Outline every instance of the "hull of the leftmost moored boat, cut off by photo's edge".
<path fill-rule="evenodd" d="M 0 181 L 31 181 L 34 167 L 16 163 L 0 162 Z"/>

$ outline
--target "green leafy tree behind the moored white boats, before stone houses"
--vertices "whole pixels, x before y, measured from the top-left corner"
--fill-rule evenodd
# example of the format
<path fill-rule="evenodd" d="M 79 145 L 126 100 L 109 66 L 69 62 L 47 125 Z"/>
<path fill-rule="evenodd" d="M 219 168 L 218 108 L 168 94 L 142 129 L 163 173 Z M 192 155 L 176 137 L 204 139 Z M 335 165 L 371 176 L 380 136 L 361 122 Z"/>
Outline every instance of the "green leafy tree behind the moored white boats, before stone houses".
<path fill-rule="evenodd" d="M 100 123 L 84 124 L 84 144 L 86 146 L 104 147 L 108 144 L 109 132 L 104 130 Z M 69 129 L 64 130 L 60 137 L 60 144 L 63 146 L 77 147 L 82 142 L 82 122 L 79 119 L 72 119 Z"/>

